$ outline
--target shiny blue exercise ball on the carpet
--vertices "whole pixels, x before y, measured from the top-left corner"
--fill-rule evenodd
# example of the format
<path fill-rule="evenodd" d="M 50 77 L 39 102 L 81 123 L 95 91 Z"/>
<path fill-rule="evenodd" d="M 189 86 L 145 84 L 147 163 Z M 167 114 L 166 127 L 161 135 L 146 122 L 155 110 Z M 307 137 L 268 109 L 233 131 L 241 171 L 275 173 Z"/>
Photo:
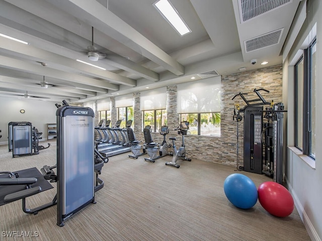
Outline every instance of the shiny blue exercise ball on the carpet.
<path fill-rule="evenodd" d="M 223 190 L 228 200 L 238 208 L 251 208 L 258 199 L 255 183 L 252 179 L 240 173 L 226 177 Z"/>

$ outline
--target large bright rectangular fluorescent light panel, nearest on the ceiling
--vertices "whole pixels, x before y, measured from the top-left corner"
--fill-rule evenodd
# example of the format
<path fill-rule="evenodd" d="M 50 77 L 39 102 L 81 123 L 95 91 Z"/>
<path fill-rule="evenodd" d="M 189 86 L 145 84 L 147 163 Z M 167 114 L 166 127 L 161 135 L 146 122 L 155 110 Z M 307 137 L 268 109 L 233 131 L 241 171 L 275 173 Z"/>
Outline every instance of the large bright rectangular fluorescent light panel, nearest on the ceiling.
<path fill-rule="evenodd" d="M 178 14 L 177 10 L 172 6 L 172 4 L 170 4 L 168 0 L 158 0 L 153 5 L 179 32 L 181 36 L 191 33 L 191 30 L 188 28 L 188 26 Z"/>

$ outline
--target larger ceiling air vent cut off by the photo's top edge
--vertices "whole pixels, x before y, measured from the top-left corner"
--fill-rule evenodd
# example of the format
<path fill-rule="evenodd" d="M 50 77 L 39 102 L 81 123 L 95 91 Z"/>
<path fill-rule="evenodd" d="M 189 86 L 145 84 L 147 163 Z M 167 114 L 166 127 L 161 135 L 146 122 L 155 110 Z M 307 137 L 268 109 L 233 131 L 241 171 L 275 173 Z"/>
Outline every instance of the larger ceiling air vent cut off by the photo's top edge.
<path fill-rule="evenodd" d="M 292 0 L 238 0 L 240 22 L 244 23 L 289 3 L 292 3 Z"/>

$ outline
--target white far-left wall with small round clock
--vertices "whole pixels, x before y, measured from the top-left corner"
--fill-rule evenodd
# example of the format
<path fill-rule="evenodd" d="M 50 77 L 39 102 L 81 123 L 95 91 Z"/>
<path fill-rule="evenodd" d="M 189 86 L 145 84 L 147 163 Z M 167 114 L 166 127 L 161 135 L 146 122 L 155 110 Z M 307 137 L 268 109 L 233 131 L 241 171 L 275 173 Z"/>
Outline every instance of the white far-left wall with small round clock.
<path fill-rule="evenodd" d="M 25 113 L 20 113 L 24 109 Z M 56 123 L 55 102 L 35 100 L 35 99 L 14 99 L 0 97 L 0 130 L 2 138 L 0 145 L 8 144 L 8 123 L 9 122 L 31 122 L 39 132 L 42 132 L 42 138 L 47 139 L 47 123 Z"/>

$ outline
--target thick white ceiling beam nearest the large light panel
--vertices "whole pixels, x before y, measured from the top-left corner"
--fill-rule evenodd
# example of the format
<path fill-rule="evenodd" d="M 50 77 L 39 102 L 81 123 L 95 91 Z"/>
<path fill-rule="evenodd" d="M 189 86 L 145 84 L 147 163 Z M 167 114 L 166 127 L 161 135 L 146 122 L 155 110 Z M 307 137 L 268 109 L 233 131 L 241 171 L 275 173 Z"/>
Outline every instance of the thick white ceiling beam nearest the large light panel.
<path fill-rule="evenodd" d="M 8 2 L 14 2 L 15 5 L 19 5 L 17 2 L 21 1 Z M 82 16 L 83 19 L 86 19 L 88 23 L 91 23 L 99 31 L 108 33 L 111 38 L 142 54 L 153 62 L 164 66 L 174 74 L 183 75 L 185 73 L 183 65 L 97 1 L 59 0 L 52 2 L 52 4 L 64 11 L 68 11 L 75 18 Z M 26 7 L 29 8 L 28 6 Z"/>

